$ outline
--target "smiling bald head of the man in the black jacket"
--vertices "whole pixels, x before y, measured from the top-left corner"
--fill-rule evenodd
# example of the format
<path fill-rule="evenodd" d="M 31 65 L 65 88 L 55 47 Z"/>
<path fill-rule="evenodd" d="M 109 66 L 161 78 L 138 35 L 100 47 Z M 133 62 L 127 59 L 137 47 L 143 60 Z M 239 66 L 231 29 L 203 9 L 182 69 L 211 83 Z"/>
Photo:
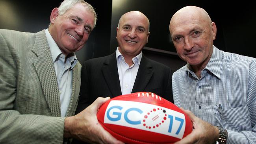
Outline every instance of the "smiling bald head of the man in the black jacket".
<path fill-rule="evenodd" d="M 117 42 L 124 57 L 135 57 L 141 52 L 148 42 L 148 27 L 148 18 L 139 11 L 122 15 L 117 28 Z"/>

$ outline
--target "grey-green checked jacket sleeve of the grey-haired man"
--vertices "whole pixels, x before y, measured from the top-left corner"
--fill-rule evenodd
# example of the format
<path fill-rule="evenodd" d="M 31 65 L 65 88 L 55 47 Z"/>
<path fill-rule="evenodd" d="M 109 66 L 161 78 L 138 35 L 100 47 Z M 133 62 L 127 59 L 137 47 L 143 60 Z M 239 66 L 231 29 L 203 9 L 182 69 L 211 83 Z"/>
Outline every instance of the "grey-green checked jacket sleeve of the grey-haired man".
<path fill-rule="evenodd" d="M 20 114 L 16 111 L 17 61 L 10 44 L 0 31 L 0 143 L 42 144 L 63 142 L 64 119 Z M 25 107 L 25 105 L 24 105 Z"/>

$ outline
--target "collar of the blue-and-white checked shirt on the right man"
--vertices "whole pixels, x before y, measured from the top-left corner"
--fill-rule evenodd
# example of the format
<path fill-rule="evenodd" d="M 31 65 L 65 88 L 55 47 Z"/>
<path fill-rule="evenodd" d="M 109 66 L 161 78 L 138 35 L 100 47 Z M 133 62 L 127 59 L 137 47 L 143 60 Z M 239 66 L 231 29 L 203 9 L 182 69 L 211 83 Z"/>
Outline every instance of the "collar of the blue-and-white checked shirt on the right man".
<path fill-rule="evenodd" d="M 186 67 L 187 71 L 189 71 L 192 74 L 191 66 L 189 65 L 189 63 L 187 63 Z M 204 70 L 209 70 L 212 74 L 221 79 L 221 67 L 221 51 L 215 46 L 213 46 L 213 53 Z"/>

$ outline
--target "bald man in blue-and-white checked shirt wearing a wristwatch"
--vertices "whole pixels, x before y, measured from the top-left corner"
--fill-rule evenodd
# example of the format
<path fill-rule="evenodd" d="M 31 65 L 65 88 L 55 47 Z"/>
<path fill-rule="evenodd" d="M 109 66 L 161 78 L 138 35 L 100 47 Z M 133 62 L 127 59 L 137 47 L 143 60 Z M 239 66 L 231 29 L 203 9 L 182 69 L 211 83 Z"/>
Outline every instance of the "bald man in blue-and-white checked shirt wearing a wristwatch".
<path fill-rule="evenodd" d="M 178 10 L 169 28 L 187 62 L 173 74 L 174 103 L 195 128 L 177 144 L 256 143 L 256 59 L 213 46 L 216 25 L 202 8 Z"/>

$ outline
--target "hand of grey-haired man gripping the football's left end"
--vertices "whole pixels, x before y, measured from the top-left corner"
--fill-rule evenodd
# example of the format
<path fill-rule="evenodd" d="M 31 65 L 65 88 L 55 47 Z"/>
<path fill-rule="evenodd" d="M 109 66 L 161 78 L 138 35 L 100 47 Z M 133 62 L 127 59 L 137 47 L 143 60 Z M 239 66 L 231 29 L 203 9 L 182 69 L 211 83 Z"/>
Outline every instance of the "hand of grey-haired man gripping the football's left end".
<path fill-rule="evenodd" d="M 109 99 L 98 97 L 82 112 L 65 118 L 64 137 L 73 137 L 89 143 L 123 144 L 100 125 L 96 116 L 100 106 Z"/>

